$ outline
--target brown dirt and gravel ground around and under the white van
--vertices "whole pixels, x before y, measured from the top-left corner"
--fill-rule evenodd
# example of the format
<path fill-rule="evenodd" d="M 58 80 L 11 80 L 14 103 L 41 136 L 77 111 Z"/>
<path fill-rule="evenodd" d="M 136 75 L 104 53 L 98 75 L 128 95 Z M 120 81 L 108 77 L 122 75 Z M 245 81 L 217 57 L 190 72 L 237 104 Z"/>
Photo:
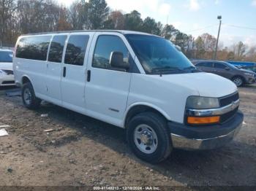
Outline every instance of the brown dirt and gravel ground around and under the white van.
<path fill-rule="evenodd" d="M 256 85 L 239 89 L 245 123 L 234 141 L 205 152 L 175 149 L 158 165 L 138 160 L 120 128 L 52 104 L 31 111 L 5 92 L 0 125 L 10 127 L 0 137 L 1 186 L 256 186 Z"/>

